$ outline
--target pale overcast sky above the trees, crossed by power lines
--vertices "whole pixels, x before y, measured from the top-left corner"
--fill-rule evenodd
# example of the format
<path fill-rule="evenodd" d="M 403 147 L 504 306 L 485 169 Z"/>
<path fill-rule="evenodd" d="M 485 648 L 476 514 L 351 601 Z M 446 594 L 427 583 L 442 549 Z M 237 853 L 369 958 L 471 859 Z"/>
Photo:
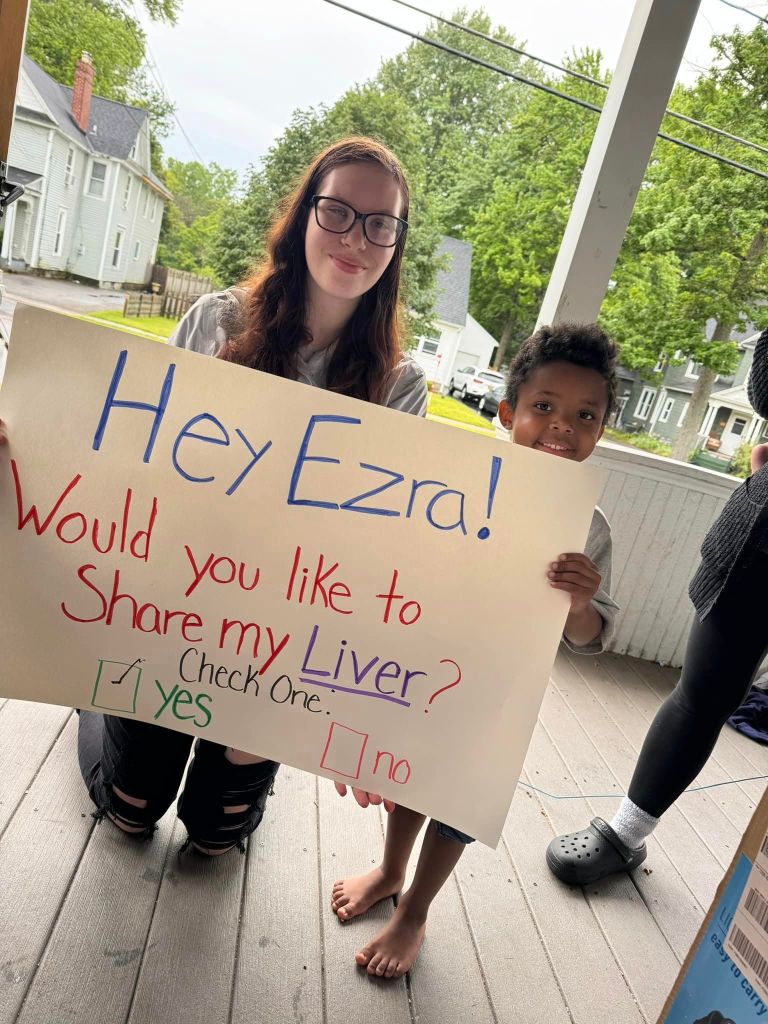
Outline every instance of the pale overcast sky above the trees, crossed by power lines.
<path fill-rule="evenodd" d="M 429 20 L 391 0 L 344 2 L 415 32 Z M 459 6 L 414 2 L 444 17 Z M 738 2 L 768 15 L 768 2 Z M 466 5 L 484 7 L 495 24 L 504 25 L 537 56 L 560 62 L 570 50 L 590 46 L 613 67 L 634 0 L 485 0 Z M 757 24 L 722 0 L 701 0 L 681 77 L 690 81 L 696 67 L 709 65 L 714 33 L 735 25 L 750 31 Z M 239 172 L 258 162 L 294 110 L 333 103 L 410 42 L 325 0 L 183 0 L 175 28 L 143 25 L 160 79 L 191 142 L 177 130 L 164 142 L 166 153 L 178 160 L 215 160 Z M 445 59 L 457 58 L 446 54 Z"/>

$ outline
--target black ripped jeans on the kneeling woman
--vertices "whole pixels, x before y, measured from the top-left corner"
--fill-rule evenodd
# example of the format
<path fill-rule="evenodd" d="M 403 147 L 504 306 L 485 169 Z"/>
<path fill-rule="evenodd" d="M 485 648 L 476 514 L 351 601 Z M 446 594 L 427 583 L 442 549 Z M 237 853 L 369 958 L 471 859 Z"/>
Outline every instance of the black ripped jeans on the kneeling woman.
<path fill-rule="evenodd" d="M 80 712 L 80 771 L 98 813 L 110 813 L 126 825 L 142 825 L 138 835 L 152 836 L 178 793 L 191 743 L 191 736 L 159 725 Z M 274 761 L 236 765 L 225 751 L 219 743 L 197 740 L 177 807 L 187 843 L 213 851 L 244 849 L 243 841 L 261 821 L 280 768 Z M 146 807 L 123 800 L 113 786 L 145 800 Z M 224 810 L 242 805 L 246 810 Z"/>

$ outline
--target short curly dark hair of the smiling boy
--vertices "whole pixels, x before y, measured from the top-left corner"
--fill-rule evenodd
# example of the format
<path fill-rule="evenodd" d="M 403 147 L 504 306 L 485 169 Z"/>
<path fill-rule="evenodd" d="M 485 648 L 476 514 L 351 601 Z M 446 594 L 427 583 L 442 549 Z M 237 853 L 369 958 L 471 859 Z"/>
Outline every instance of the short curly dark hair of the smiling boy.
<path fill-rule="evenodd" d="M 506 398 L 512 409 L 517 403 L 517 390 L 537 367 L 546 362 L 572 362 L 594 370 L 605 381 L 608 404 L 603 423 L 613 412 L 616 401 L 616 371 L 618 346 L 597 324 L 558 324 L 540 327 L 520 345 L 507 377 Z"/>

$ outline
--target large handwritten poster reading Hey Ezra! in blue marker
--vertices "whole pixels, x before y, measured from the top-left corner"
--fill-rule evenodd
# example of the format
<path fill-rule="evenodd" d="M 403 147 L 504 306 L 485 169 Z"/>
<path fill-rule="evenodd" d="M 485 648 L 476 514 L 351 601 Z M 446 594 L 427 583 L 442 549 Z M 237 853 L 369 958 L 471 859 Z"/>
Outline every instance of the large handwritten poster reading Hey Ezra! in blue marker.
<path fill-rule="evenodd" d="M 593 471 L 24 306 L 0 418 L 0 693 L 498 841 Z"/>

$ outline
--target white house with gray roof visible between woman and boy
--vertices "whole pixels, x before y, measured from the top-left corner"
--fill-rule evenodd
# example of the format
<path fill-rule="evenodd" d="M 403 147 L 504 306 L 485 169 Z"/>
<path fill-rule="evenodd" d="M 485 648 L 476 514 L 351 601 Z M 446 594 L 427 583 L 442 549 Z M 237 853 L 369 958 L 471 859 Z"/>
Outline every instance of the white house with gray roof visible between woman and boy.
<path fill-rule="evenodd" d="M 485 369 L 499 342 L 468 312 L 472 246 L 443 238 L 436 256 L 445 257 L 437 271 L 432 334 L 419 339 L 414 357 L 427 379 L 447 384 L 454 370 L 465 366 Z"/>

